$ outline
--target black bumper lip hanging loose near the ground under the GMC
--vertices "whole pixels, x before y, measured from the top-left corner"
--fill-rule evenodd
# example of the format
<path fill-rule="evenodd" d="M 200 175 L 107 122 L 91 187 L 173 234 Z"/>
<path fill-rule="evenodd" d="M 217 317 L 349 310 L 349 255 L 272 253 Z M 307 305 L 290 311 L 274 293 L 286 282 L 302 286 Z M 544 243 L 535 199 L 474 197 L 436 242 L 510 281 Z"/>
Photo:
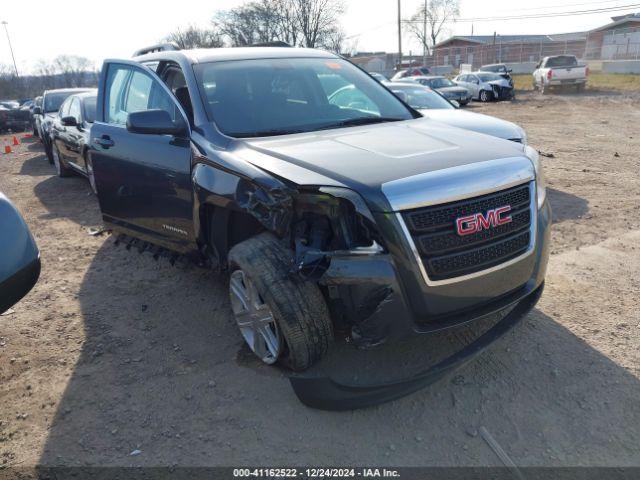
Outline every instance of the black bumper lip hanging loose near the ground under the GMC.
<path fill-rule="evenodd" d="M 305 405 L 321 410 L 344 411 L 389 402 L 413 393 L 467 363 L 513 328 L 535 306 L 544 284 L 523 298 L 504 318 L 453 355 L 408 379 L 356 385 L 329 377 L 290 377 L 291 386 Z"/>

